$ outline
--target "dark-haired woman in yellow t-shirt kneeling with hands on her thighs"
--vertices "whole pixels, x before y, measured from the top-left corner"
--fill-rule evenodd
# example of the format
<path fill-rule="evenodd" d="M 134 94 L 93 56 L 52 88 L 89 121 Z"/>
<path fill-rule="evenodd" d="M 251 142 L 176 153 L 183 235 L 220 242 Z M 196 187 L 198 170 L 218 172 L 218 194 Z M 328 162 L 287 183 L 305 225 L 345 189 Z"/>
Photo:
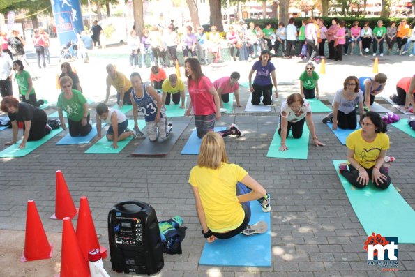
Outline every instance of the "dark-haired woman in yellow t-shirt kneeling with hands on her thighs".
<path fill-rule="evenodd" d="M 376 112 L 363 114 L 362 128 L 355 130 L 346 139 L 349 170 L 340 165 L 342 174 L 356 188 L 364 188 L 369 179 L 375 186 L 386 189 L 391 184 L 385 162 L 389 149 L 388 126 Z M 346 167 L 347 168 L 347 167 Z"/>

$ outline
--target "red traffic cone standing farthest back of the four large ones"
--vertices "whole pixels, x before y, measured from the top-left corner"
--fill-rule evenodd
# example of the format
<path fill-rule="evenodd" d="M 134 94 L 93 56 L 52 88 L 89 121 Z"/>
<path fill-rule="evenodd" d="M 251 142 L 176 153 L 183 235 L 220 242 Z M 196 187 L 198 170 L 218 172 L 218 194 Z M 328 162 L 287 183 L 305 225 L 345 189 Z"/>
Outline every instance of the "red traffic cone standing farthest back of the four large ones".
<path fill-rule="evenodd" d="M 75 204 L 73 204 L 68 186 L 61 170 L 56 171 L 56 204 L 55 213 L 50 218 L 63 219 L 65 217 L 73 218 L 77 214 Z"/>

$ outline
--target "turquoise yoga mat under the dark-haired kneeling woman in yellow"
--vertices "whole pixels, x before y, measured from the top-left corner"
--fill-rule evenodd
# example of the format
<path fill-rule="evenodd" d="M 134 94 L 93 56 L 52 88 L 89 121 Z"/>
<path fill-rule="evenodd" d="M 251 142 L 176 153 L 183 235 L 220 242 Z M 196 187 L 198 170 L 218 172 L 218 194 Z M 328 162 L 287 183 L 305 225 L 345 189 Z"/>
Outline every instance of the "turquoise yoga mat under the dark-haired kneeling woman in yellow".
<path fill-rule="evenodd" d="M 338 164 L 342 162 L 345 161 L 333 160 L 333 165 L 366 234 L 375 232 L 382 237 L 398 237 L 400 244 L 414 244 L 415 211 L 393 184 L 381 190 L 370 181 L 366 188 L 354 188 L 338 172 Z"/>

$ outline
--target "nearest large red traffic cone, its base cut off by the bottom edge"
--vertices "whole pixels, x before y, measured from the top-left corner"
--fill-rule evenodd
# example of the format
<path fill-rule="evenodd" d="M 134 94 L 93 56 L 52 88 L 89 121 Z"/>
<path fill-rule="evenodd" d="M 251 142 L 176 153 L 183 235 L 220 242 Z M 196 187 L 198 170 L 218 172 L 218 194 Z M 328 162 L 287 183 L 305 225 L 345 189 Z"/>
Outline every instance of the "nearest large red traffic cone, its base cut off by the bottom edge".
<path fill-rule="evenodd" d="M 89 265 L 82 255 L 70 218 L 63 218 L 61 277 L 89 277 Z"/>

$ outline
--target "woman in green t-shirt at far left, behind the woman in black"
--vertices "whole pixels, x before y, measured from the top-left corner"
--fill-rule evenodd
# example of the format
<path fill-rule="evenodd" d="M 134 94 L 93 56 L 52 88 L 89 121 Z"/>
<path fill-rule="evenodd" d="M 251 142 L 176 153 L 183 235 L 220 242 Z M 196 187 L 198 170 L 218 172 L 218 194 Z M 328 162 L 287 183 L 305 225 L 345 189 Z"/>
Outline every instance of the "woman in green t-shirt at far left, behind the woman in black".
<path fill-rule="evenodd" d="M 33 82 L 30 73 L 24 70 L 24 66 L 20 59 L 13 61 L 13 68 L 15 69 L 15 79 L 19 87 L 20 100 L 29 103 L 32 106 L 39 107 L 43 105 L 43 100 L 36 99 L 35 89 L 33 89 Z"/>

